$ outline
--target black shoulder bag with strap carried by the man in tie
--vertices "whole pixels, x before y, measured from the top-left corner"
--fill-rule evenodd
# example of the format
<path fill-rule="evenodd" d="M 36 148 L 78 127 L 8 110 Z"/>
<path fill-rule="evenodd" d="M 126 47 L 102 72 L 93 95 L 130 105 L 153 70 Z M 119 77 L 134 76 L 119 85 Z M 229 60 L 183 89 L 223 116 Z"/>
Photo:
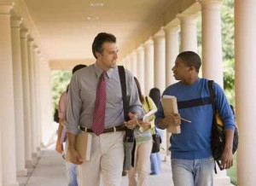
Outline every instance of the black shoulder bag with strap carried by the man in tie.
<path fill-rule="evenodd" d="M 128 111 L 129 111 L 129 103 L 126 96 L 126 80 L 125 80 L 125 68 L 123 66 L 119 66 L 119 79 L 122 89 L 122 98 L 123 98 L 123 108 L 124 108 L 124 117 L 125 121 L 129 120 Z M 132 148 L 134 146 L 134 133 L 133 130 L 125 127 L 125 160 L 123 170 L 127 171 L 131 169 L 132 165 Z"/>

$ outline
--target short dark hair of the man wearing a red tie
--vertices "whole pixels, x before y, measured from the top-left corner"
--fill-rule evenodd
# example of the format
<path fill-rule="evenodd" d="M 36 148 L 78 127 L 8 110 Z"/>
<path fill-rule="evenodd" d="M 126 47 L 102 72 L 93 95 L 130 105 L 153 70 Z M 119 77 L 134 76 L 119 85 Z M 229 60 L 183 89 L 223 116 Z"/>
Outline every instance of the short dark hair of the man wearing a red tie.
<path fill-rule="evenodd" d="M 92 53 L 96 59 L 97 59 L 96 52 L 99 52 L 100 54 L 102 54 L 103 52 L 102 46 L 105 42 L 116 43 L 116 38 L 111 33 L 106 33 L 106 32 L 98 33 L 98 35 L 96 36 L 96 38 L 94 38 L 94 41 L 92 43 Z"/>

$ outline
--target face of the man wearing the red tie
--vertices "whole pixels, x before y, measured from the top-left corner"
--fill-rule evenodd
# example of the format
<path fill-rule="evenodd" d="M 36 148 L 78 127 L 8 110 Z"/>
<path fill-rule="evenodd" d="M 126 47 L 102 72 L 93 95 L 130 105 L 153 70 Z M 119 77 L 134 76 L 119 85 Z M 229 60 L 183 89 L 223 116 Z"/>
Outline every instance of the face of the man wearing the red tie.
<path fill-rule="evenodd" d="M 98 55 L 97 61 L 99 61 L 106 70 L 116 67 L 118 59 L 118 49 L 115 43 L 105 42 L 102 45 L 102 54 Z"/>

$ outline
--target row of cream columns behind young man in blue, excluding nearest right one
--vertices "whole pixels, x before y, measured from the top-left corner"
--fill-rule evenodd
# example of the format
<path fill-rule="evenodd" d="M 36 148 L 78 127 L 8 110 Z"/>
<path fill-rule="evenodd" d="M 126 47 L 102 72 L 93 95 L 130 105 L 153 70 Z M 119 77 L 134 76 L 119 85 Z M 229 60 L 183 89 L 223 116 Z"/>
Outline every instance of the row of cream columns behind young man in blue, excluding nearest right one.
<path fill-rule="evenodd" d="M 223 86 L 221 1 L 199 2 L 202 17 L 202 75 L 204 78 L 214 79 Z M 172 67 L 179 52 L 197 52 L 197 15 L 198 12 L 177 15 L 177 21 L 161 28 L 160 32 L 124 59 L 123 64 L 137 76 L 144 95 L 148 95 L 153 87 L 159 88 L 162 92 L 167 86 L 177 82 L 173 77 Z M 143 53 L 144 58 L 141 57 Z M 165 138 L 162 145 L 168 149 L 170 134 L 166 133 Z M 166 151 L 166 154 L 170 155 L 170 152 Z M 218 177 L 215 178 L 215 183 L 229 184 L 230 178 L 225 174 L 226 171 L 219 171 L 218 176 L 215 176 Z"/>

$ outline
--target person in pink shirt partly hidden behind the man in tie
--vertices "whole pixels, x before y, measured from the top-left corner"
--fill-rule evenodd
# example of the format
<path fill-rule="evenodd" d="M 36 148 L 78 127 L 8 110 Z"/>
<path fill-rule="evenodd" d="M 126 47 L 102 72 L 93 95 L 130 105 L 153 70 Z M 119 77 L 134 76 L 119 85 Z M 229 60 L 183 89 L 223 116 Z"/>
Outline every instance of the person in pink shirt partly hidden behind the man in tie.
<path fill-rule="evenodd" d="M 73 67 L 72 74 L 78 71 L 79 69 L 86 67 L 85 65 L 77 65 Z M 68 92 L 68 85 L 67 85 L 67 90 L 64 91 L 61 94 L 59 105 L 58 105 L 58 116 L 59 116 L 59 128 L 57 131 L 57 141 L 55 145 L 55 150 L 59 153 L 62 154 L 62 157 L 65 159 L 65 154 L 67 154 L 67 142 L 66 142 L 66 148 L 65 148 L 65 153 L 63 154 L 63 142 L 66 141 L 66 129 L 63 127 L 62 122 L 66 120 L 66 108 L 67 108 L 67 92 Z M 67 181 L 68 181 L 68 186 L 77 186 L 77 165 L 71 163 L 71 162 L 66 162 L 67 166 Z"/>

